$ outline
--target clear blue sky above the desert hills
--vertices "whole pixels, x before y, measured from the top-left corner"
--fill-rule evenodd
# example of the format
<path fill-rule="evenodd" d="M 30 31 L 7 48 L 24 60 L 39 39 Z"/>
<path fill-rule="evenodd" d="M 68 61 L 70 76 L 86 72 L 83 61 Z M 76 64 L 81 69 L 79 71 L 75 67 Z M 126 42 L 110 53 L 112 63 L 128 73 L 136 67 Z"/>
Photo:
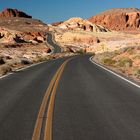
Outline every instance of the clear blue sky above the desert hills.
<path fill-rule="evenodd" d="M 140 8 L 140 0 L 0 0 L 0 10 L 17 8 L 46 23 L 88 18 L 111 8 Z"/>

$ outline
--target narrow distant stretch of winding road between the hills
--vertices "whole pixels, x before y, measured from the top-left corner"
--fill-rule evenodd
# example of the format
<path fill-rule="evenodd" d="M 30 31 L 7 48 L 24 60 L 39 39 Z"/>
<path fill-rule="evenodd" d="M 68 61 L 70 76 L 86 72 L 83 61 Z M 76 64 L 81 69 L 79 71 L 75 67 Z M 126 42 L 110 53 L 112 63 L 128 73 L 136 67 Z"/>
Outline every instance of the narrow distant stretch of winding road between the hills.
<path fill-rule="evenodd" d="M 49 43 L 53 48 L 53 53 L 61 53 L 61 47 L 54 42 L 54 37 L 51 32 L 46 33 L 47 43 Z"/>

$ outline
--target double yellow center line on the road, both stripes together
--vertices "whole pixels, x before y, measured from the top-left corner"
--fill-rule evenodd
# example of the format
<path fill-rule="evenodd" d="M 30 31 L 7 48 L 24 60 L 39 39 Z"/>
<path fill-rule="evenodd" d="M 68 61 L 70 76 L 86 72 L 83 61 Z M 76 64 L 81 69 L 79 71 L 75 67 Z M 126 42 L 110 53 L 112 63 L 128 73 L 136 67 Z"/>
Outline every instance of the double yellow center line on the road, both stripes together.
<path fill-rule="evenodd" d="M 55 96 L 56 96 L 56 90 L 57 90 L 61 75 L 63 73 L 63 70 L 64 70 L 66 64 L 68 63 L 68 61 L 70 61 L 70 59 L 66 60 L 59 67 L 59 69 L 56 71 L 55 75 L 53 76 L 53 78 L 48 86 L 48 89 L 45 93 L 45 96 L 43 98 L 42 104 L 39 109 L 32 140 L 40 140 L 41 129 L 42 129 L 44 117 L 47 118 L 46 122 L 45 122 L 44 140 L 52 140 L 52 119 L 53 119 L 53 110 L 54 110 L 54 101 L 55 101 Z M 47 116 L 44 116 L 47 104 L 48 104 Z"/>

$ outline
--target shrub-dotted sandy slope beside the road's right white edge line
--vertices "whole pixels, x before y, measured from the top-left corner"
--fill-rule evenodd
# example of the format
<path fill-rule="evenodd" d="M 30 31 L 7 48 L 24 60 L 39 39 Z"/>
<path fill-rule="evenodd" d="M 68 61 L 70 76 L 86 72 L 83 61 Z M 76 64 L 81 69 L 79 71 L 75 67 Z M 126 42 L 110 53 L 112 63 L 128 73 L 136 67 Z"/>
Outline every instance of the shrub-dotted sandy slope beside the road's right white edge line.
<path fill-rule="evenodd" d="M 95 60 L 140 81 L 140 47 L 138 46 L 96 54 Z"/>

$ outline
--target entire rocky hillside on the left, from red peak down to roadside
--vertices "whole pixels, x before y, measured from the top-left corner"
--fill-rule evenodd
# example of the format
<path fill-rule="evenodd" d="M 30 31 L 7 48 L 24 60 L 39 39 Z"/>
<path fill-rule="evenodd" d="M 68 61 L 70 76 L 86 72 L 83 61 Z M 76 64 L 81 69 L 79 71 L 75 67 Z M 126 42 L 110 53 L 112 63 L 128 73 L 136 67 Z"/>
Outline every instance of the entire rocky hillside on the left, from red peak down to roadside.
<path fill-rule="evenodd" d="M 48 25 L 16 9 L 0 13 L 0 76 L 48 59 Z"/>

